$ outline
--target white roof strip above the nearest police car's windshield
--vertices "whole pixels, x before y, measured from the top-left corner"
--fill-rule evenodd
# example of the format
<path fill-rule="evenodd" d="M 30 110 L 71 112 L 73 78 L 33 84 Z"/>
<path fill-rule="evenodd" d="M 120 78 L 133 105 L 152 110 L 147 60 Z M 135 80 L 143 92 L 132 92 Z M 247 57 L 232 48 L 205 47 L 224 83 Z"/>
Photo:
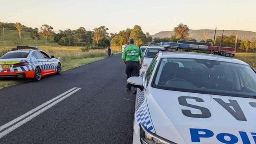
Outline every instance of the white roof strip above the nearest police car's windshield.
<path fill-rule="evenodd" d="M 215 60 L 215 61 L 223 61 L 223 62 L 230 62 L 230 63 L 237 63 L 243 65 L 249 65 L 244 61 L 234 59 L 232 57 L 224 57 L 221 55 L 214 55 L 214 54 L 203 54 L 203 53 L 196 53 L 196 52 L 162 52 L 162 58 L 190 58 L 190 59 L 207 59 L 207 60 Z"/>

